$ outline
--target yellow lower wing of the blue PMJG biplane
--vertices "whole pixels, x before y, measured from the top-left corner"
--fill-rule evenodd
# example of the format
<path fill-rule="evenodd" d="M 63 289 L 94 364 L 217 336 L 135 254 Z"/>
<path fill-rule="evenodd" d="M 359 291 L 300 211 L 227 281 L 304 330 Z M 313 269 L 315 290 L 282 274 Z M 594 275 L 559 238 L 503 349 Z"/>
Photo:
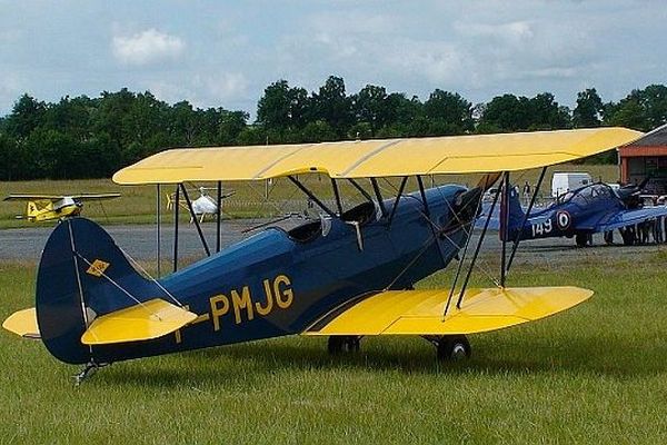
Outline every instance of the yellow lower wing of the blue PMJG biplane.
<path fill-rule="evenodd" d="M 469 289 L 460 309 L 449 290 L 389 290 L 335 310 L 305 335 L 451 335 L 476 334 L 537 320 L 569 309 L 593 296 L 578 287 Z"/>

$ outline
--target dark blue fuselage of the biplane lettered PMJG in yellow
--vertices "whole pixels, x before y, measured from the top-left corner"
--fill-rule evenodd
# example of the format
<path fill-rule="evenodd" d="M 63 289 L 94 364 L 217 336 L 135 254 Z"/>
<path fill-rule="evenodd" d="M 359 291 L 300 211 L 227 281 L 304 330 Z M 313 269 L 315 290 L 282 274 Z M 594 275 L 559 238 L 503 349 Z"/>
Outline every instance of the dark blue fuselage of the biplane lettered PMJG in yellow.
<path fill-rule="evenodd" d="M 365 219 L 362 249 L 346 214 L 289 233 L 268 228 L 160 280 L 199 315 L 193 323 L 156 340 L 96 347 L 96 356 L 112 362 L 298 334 L 348 301 L 408 288 L 445 268 L 465 244 L 470 227 L 452 216 L 465 191 L 428 189 L 427 207 L 419 194 L 406 196 L 391 224 L 392 200 L 385 217 L 361 205 L 347 218 Z M 467 205 L 469 222 L 477 200 Z"/>

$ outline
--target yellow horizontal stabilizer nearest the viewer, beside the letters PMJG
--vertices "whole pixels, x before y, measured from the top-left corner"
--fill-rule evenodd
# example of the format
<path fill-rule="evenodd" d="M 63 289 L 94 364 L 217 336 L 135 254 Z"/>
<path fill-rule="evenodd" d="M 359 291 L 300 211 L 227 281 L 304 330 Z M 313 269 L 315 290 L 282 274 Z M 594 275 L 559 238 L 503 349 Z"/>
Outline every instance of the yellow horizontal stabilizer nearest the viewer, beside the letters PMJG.
<path fill-rule="evenodd" d="M 81 336 L 84 345 L 142 342 L 171 334 L 197 318 L 182 307 L 151 299 L 97 317 Z"/>

